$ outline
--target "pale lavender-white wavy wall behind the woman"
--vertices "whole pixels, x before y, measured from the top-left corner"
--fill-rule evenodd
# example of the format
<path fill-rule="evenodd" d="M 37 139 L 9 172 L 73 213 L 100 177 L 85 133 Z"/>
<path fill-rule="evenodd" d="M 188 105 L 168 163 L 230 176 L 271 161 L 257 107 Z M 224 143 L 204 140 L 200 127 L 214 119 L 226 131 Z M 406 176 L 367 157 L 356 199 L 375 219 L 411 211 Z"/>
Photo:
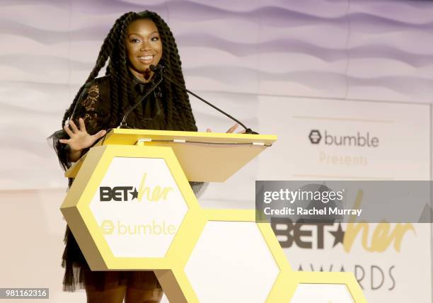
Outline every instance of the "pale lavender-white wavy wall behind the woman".
<path fill-rule="evenodd" d="M 160 13 L 171 26 L 187 86 L 259 132 L 276 123 L 260 117 L 259 105 L 265 106 L 268 96 L 432 101 L 432 1 L 2 0 L 0 197 L 8 211 L 1 212 L 0 222 L 14 222 L 33 202 L 45 219 L 28 236 L 52 232 L 61 239 L 64 222 L 57 208 L 67 182 L 46 137 L 61 127 L 63 111 L 88 76 L 113 21 L 144 9 Z M 192 100 L 201 130 L 225 131 L 231 125 L 197 102 Z M 229 183 L 210 186 L 202 203 L 253 207 L 257 169 L 253 161 Z M 26 246 L 17 247 L 1 259 L 23 260 Z M 60 241 L 55 247 L 35 256 L 52 268 Z M 54 272 L 50 285 L 57 292 L 62 270 Z M 0 275 L 0 284 L 23 285 L 20 273 L 8 279 Z M 54 302 L 76 298 L 55 296 Z"/>

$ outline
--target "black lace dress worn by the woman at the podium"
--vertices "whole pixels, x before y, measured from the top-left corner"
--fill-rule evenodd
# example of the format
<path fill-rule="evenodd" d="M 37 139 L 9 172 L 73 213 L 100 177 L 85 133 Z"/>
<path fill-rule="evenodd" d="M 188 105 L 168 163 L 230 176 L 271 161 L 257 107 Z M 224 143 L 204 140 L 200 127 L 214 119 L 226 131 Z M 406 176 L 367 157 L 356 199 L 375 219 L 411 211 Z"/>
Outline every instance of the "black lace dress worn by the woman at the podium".
<path fill-rule="evenodd" d="M 130 96 L 129 105 L 123 105 L 128 108 L 139 99 L 152 85 L 152 82 L 143 83 L 136 79 L 132 74 L 130 76 Z M 81 94 L 74 111 L 73 120 L 79 125 L 79 118 L 83 118 L 86 124 L 86 130 L 93 135 L 100 130 L 109 130 L 117 127 L 119 118 L 113 117 L 116 113 L 115 107 L 119 105 L 110 101 L 110 79 L 104 76 L 93 81 L 91 85 Z M 149 95 L 142 104 L 140 104 L 127 119 L 129 127 L 151 130 L 166 130 L 166 108 L 163 103 L 163 93 L 161 89 L 156 89 Z M 67 144 L 59 143 L 59 139 L 67 138 L 64 131 L 55 132 L 52 135 L 54 149 L 59 156 L 60 163 L 64 168 L 71 166 L 69 161 L 69 147 Z M 83 150 L 86 153 L 88 149 Z M 72 183 L 69 179 L 69 185 Z M 190 183 L 192 190 L 197 194 L 202 188 L 203 183 Z M 91 271 L 88 267 L 83 253 L 76 243 L 74 235 L 67 226 L 64 236 L 66 244 L 62 256 L 62 266 L 65 268 L 64 290 L 74 291 L 84 288 L 84 285 L 93 287 L 96 290 L 107 290 L 120 285 L 139 288 L 142 290 L 154 290 L 160 288 L 158 280 L 152 271 Z"/>

